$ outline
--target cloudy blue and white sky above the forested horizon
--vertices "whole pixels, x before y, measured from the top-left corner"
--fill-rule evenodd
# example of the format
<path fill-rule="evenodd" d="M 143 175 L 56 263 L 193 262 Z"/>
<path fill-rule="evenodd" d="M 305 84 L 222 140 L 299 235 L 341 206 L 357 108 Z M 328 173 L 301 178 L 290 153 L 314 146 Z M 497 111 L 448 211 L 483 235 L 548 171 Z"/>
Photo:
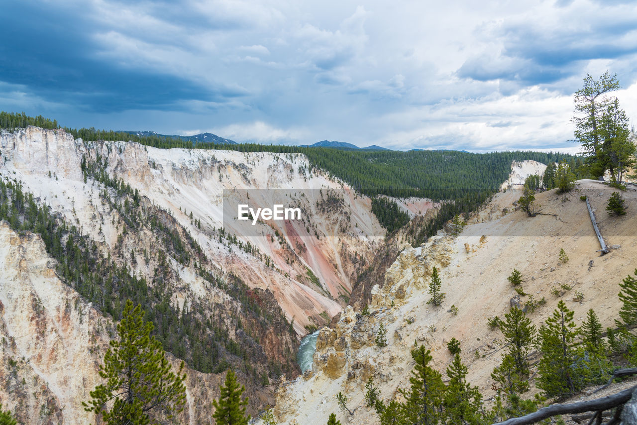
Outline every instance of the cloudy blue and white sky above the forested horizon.
<path fill-rule="evenodd" d="M 634 1 L 3 3 L 0 110 L 62 126 L 576 153 L 606 69 L 637 118 Z"/>

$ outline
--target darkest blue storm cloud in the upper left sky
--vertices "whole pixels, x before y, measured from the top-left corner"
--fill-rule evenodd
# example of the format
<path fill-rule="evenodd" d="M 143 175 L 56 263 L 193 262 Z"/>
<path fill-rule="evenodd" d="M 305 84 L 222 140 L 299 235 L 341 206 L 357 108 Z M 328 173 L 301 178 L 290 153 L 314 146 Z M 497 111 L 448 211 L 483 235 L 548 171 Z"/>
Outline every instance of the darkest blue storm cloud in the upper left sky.
<path fill-rule="evenodd" d="M 210 87 L 155 69 L 96 59 L 90 38 L 99 24 L 64 8 L 11 3 L 0 25 L 0 80 L 24 85 L 48 101 L 76 104 L 94 112 L 178 108 L 183 101 L 214 101 L 243 96 L 245 90 Z"/>

